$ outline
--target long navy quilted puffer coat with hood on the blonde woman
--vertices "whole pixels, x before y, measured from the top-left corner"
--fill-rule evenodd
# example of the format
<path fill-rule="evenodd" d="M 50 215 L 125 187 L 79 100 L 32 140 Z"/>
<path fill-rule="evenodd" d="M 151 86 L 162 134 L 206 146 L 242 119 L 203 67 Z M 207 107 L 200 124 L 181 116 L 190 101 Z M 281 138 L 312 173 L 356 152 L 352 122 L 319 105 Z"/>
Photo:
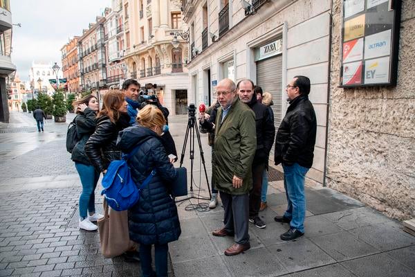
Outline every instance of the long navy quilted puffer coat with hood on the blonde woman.
<path fill-rule="evenodd" d="M 129 159 L 131 175 L 137 184 L 147 178 L 151 170 L 156 175 L 141 190 L 140 200 L 129 210 L 130 240 L 141 244 L 165 244 L 178 240 L 181 234 L 177 208 L 169 195 L 169 184 L 177 172 L 165 152 L 160 136 L 146 127 L 128 127 L 118 135 L 117 147 L 129 153 L 138 144 L 140 150 Z"/>

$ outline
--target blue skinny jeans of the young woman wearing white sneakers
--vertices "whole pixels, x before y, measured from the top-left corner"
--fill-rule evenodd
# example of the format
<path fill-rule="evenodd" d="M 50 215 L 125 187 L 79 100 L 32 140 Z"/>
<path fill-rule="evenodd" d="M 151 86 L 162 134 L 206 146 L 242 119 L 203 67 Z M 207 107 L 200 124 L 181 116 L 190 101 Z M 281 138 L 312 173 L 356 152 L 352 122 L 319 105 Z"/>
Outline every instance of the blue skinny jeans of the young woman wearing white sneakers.
<path fill-rule="evenodd" d="M 80 175 L 82 183 L 82 193 L 80 195 L 80 217 L 84 220 L 87 216 L 86 211 L 95 213 L 95 188 L 97 187 L 100 172 L 93 166 L 86 166 L 83 163 L 75 162 L 75 168 Z"/>

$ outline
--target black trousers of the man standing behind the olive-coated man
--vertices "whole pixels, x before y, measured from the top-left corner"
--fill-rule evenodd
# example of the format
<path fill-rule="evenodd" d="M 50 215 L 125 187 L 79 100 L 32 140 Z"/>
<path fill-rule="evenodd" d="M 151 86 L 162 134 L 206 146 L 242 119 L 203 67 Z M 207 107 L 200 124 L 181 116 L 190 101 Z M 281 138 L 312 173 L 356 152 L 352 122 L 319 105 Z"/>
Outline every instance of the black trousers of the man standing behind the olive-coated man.
<path fill-rule="evenodd" d="M 261 206 L 262 175 L 265 163 L 252 163 L 252 190 L 249 193 L 249 217 L 257 217 Z"/>

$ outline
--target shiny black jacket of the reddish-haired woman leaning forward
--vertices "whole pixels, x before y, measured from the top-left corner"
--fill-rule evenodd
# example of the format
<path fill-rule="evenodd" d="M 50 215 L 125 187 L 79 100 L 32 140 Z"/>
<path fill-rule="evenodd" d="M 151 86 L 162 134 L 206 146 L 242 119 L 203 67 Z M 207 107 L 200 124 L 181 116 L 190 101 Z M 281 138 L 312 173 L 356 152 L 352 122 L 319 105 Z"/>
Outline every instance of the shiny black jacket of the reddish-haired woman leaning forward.
<path fill-rule="evenodd" d="M 121 152 L 116 147 L 118 132 L 129 126 L 128 114 L 121 114 L 116 123 L 112 123 L 108 116 L 96 119 L 95 132 L 85 143 L 85 154 L 100 172 L 106 170 L 109 163 L 121 159 Z"/>

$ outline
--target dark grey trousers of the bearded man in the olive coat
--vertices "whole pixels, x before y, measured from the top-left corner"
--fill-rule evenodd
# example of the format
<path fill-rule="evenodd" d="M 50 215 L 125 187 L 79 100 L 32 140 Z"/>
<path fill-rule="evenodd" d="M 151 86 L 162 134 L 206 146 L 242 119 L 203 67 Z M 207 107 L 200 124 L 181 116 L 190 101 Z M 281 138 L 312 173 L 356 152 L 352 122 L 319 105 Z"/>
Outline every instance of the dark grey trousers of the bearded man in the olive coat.
<path fill-rule="evenodd" d="M 248 212 L 249 197 L 245 195 L 230 195 L 219 192 L 225 215 L 223 224 L 228 233 L 234 233 L 234 240 L 237 244 L 246 244 L 249 242 L 248 235 Z"/>

